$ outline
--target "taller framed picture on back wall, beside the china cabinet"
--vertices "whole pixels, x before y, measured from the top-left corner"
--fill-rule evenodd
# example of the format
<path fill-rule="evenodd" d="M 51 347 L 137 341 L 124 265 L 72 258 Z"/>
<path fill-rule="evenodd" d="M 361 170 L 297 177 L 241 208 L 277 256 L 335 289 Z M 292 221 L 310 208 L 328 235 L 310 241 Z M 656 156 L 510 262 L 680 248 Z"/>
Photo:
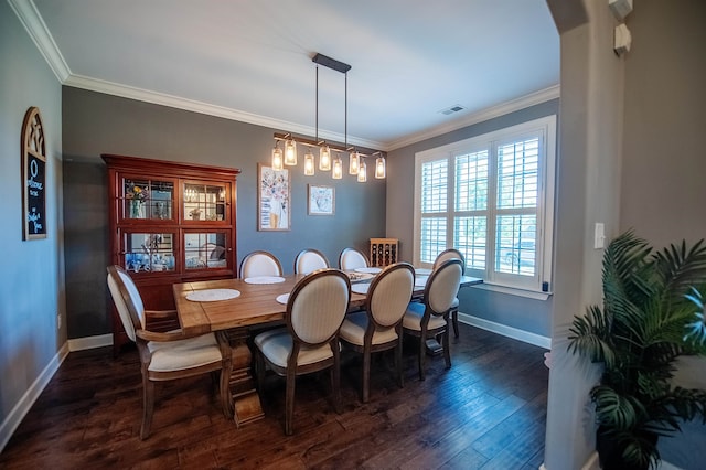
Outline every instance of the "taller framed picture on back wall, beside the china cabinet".
<path fill-rule="evenodd" d="M 290 228 L 289 170 L 272 170 L 257 163 L 259 191 L 257 192 L 257 229 L 288 231 Z"/>

